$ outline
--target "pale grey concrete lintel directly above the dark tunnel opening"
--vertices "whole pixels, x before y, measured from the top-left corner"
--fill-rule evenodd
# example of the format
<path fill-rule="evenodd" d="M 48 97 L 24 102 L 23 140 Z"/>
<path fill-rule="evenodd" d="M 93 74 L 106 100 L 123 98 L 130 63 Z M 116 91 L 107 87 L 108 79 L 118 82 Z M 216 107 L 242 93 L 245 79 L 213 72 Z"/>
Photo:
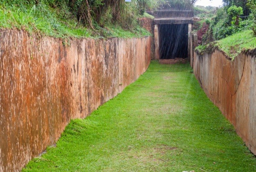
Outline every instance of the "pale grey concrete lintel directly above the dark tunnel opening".
<path fill-rule="evenodd" d="M 161 18 L 154 19 L 155 25 L 161 24 L 192 24 L 193 18 Z"/>

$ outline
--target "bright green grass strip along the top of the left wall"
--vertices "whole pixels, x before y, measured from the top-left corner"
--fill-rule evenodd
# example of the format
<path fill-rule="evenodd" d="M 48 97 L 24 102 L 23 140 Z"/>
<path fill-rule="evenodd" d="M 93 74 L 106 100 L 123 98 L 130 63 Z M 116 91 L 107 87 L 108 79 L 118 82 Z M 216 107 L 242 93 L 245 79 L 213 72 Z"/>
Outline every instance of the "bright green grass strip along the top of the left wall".
<path fill-rule="evenodd" d="M 133 38 L 150 36 L 146 29 L 139 25 L 135 29 L 122 29 L 118 24 L 90 29 L 80 24 L 70 14 L 60 9 L 53 9 L 43 2 L 39 5 L 13 5 L 0 2 L 0 29 L 26 30 L 30 34 L 56 38 Z M 64 16 L 64 17 L 63 17 Z M 66 18 L 65 18 L 66 16 Z"/>

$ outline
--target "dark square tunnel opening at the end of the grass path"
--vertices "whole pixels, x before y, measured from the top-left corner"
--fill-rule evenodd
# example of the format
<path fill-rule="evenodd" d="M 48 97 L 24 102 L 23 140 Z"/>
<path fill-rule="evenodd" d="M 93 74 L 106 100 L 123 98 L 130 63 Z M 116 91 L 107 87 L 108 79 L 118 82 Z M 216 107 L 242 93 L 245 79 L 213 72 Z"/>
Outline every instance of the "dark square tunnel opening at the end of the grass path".
<path fill-rule="evenodd" d="M 159 27 L 160 59 L 188 57 L 188 24 L 164 24 Z"/>

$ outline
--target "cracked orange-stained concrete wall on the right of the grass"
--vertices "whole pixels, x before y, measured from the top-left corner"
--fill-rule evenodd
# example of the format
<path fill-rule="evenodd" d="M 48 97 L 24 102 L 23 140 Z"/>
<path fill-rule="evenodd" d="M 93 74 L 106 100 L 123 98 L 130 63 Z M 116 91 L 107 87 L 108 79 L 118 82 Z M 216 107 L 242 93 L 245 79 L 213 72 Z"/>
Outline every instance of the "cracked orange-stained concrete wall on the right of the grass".
<path fill-rule="evenodd" d="M 195 52 L 194 73 L 204 92 L 235 126 L 237 134 L 256 155 L 256 50 L 243 52 L 234 61 L 215 50 Z"/>

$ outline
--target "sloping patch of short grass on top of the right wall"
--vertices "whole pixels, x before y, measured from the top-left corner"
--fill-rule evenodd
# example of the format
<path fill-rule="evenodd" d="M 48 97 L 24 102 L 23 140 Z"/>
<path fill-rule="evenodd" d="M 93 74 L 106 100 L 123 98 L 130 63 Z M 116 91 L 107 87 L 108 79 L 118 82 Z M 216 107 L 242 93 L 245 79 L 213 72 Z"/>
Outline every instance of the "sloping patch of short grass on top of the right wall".
<path fill-rule="evenodd" d="M 253 35 L 252 30 L 245 30 L 219 41 L 212 42 L 208 45 L 199 45 L 196 47 L 196 50 L 203 54 L 209 47 L 216 47 L 219 50 L 223 50 L 231 59 L 234 60 L 242 50 L 256 48 L 256 37 Z"/>

